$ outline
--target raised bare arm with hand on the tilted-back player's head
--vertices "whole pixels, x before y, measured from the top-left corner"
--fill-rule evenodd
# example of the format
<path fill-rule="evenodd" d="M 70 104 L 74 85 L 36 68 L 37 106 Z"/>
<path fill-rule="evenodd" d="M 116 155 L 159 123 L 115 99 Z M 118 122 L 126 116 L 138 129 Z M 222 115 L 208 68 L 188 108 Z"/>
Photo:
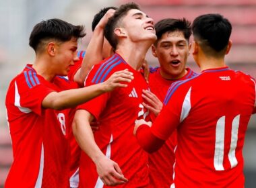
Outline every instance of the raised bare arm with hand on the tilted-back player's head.
<path fill-rule="evenodd" d="M 109 9 L 105 15 L 100 19 L 98 25 L 96 26 L 90 43 L 88 44 L 86 54 L 84 56 L 82 66 L 78 69 L 77 73 L 75 73 L 73 80 L 79 85 L 84 85 L 84 80 L 86 76 L 92 69 L 94 64 L 97 64 L 102 60 L 102 47 L 104 42 L 104 28 L 108 19 L 113 16 L 115 13 L 114 9 Z"/>

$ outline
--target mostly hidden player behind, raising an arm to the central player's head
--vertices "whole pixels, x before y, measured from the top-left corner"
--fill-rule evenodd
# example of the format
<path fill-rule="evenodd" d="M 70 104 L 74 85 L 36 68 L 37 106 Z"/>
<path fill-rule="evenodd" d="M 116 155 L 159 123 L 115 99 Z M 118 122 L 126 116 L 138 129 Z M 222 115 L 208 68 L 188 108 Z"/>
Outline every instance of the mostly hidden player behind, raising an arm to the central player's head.
<path fill-rule="evenodd" d="M 84 80 L 88 75 L 90 69 L 93 64 L 96 64 L 102 60 L 102 58 L 107 58 L 111 56 L 113 52 L 112 46 L 110 46 L 108 40 L 104 38 L 104 28 L 106 23 L 115 13 L 116 7 L 105 7 L 101 9 L 96 15 L 94 15 L 94 19 L 92 21 L 92 38 L 90 43 L 88 44 L 88 48 L 85 51 L 77 52 L 77 57 L 79 60 L 75 62 L 75 64 L 71 67 L 71 71 L 69 71 L 69 80 L 75 81 L 79 83 L 79 85 L 84 85 Z M 82 68 L 81 68 L 82 65 Z M 74 111 L 71 111 L 69 114 L 69 118 L 73 121 Z M 91 123 L 92 128 L 97 129 L 98 126 L 96 122 Z M 73 133 L 69 134 L 69 140 L 71 144 L 71 157 L 70 157 L 70 173 L 69 173 L 69 182 L 70 187 L 78 187 L 79 185 L 79 160 L 81 155 L 81 149 L 79 148 Z"/>

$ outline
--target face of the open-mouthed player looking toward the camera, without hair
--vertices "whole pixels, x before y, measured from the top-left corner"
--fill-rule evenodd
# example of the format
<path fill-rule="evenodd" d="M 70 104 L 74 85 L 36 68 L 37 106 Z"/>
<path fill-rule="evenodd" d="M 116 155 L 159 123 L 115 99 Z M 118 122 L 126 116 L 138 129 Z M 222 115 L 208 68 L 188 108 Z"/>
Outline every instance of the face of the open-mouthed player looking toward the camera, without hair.
<path fill-rule="evenodd" d="M 165 79 L 180 79 L 186 74 L 189 44 L 183 32 L 163 34 L 157 46 L 152 46 L 152 54 L 158 58 L 160 73 Z"/>

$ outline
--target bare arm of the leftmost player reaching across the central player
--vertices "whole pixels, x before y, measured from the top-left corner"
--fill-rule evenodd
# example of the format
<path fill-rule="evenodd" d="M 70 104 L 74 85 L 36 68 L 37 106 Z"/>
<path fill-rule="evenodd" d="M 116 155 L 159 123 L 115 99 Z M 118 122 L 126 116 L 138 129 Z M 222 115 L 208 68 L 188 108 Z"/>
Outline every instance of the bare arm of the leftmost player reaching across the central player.
<path fill-rule="evenodd" d="M 133 73 L 123 70 L 113 73 L 109 79 L 103 83 L 92 85 L 79 89 L 69 89 L 61 92 L 51 92 L 42 100 L 42 107 L 51 109 L 65 109 L 75 107 L 81 103 L 85 103 L 102 93 L 113 91 L 116 87 L 127 87 L 133 79 Z"/>

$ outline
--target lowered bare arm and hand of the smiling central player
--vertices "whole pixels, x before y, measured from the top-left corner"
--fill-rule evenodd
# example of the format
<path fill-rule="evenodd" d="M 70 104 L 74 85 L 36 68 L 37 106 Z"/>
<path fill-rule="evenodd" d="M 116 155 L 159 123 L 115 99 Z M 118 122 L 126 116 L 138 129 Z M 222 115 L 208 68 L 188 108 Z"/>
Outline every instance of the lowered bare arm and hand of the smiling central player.
<path fill-rule="evenodd" d="M 80 148 L 96 164 L 97 173 L 105 185 L 120 185 L 127 182 L 123 176 L 119 165 L 107 158 L 98 148 L 94 141 L 90 122 L 94 119 L 93 115 L 84 110 L 77 109 L 73 120 L 73 134 Z"/>

